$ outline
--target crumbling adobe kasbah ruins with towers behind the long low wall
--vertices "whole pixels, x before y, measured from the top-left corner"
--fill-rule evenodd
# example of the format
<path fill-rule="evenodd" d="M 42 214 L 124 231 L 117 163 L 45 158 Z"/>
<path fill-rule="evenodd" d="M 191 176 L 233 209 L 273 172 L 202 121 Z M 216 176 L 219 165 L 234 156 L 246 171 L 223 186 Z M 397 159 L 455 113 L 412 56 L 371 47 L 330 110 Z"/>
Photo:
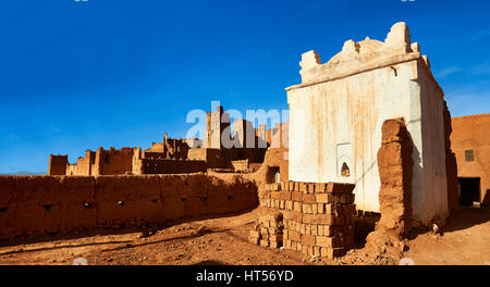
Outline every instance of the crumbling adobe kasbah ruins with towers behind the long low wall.
<path fill-rule="evenodd" d="M 87 150 L 85 158 L 70 164 L 68 155 L 49 157 L 48 175 L 117 175 L 117 174 L 172 174 L 206 172 L 207 169 L 223 169 L 235 172 L 257 171 L 264 162 L 265 153 L 272 142 L 286 141 L 283 128 L 259 129 L 246 120 L 235 120 L 234 133 L 230 128 L 230 115 L 218 107 L 207 113 L 206 137 L 173 139 L 163 136 L 162 142 L 151 142 L 145 150 L 138 148 L 102 147 L 97 151 Z M 268 136 L 267 136 L 268 135 Z M 228 138 L 224 142 L 222 138 Z M 226 145 L 231 146 L 226 146 Z M 274 144 L 275 145 L 275 144 Z"/>

